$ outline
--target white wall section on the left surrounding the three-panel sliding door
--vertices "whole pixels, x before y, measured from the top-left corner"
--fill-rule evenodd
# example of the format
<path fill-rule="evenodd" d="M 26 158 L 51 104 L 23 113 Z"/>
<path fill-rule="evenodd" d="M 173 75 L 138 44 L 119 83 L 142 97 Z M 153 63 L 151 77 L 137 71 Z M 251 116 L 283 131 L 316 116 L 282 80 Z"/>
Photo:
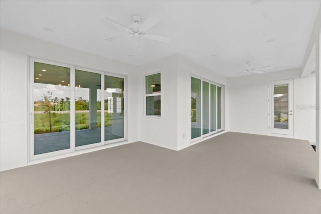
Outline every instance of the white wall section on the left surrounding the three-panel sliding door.
<path fill-rule="evenodd" d="M 28 56 L 127 75 L 128 142 L 139 140 L 136 66 L 6 30 L 1 30 L 0 39 L 1 171 L 28 164 Z"/>

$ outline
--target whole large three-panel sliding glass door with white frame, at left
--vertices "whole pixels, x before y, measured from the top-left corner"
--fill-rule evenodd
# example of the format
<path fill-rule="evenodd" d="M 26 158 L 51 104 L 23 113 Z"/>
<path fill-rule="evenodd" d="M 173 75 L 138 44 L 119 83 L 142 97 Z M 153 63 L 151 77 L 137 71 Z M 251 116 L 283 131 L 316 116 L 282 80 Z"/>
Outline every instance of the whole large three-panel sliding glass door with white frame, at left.
<path fill-rule="evenodd" d="M 30 59 L 31 160 L 125 140 L 124 77 Z"/>

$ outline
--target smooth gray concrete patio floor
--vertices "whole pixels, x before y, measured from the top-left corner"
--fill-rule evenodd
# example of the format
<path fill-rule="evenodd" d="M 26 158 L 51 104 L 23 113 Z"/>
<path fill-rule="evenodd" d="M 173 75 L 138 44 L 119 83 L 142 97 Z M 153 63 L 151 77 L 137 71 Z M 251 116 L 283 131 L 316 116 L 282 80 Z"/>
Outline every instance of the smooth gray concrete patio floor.
<path fill-rule="evenodd" d="M 0 173 L 1 213 L 321 213 L 307 141 L 228 132 L 136 142 Z"/>

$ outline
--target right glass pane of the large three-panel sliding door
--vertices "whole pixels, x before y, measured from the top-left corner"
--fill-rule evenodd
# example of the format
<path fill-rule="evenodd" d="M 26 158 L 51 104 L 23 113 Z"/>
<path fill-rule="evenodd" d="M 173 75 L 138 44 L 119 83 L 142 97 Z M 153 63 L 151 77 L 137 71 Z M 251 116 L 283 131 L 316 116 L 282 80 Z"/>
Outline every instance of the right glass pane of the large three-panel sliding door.
<path fill-rule="evenodd" d="M 105 75 L 105 141 L 124 137 L 124 78 Z"/>

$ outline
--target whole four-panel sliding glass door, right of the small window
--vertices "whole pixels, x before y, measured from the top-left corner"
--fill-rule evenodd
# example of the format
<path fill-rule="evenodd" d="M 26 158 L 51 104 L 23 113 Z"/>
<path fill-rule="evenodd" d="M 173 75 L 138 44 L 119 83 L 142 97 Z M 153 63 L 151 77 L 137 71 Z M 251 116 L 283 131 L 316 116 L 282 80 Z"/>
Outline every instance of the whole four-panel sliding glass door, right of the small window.
<path fill-rule="evenodd" d="M 191 77 L 192 141 L 222 130 L 221 90 L 222 87 L 217 84 Z"/>

